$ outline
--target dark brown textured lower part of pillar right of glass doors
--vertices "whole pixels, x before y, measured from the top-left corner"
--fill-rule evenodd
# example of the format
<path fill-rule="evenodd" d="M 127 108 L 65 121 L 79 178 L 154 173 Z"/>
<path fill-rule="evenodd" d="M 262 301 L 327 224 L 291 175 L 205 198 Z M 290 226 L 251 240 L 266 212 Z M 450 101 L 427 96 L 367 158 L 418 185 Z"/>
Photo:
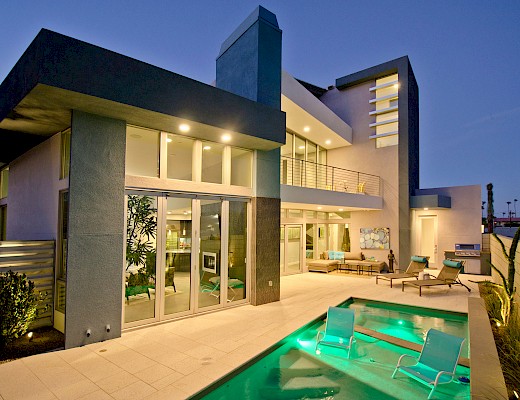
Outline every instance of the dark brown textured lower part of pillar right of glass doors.
<path fill-rule="evenodd" d="M 255 197 L 252 206 L 251 304 L 257 306 L 280 300 L 280 199 Z"/>

